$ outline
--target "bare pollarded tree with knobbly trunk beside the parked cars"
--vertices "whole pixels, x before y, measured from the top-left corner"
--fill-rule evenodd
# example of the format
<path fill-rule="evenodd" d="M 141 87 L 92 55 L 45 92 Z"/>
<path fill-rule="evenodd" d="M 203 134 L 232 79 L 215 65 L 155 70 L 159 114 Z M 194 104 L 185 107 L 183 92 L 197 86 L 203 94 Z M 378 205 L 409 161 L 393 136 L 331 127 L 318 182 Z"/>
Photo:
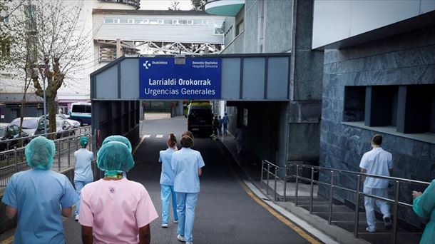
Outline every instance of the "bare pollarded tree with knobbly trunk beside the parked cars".
<path fill-rule="evenodd" d="M 44 97 L 46 81 L 50 132 L 56 131 L 57 91 L 66 85 L 70 73 L 83 68 L 90 47 L 91 36 L 83 26 L 82 6 L 83 0 L 26 0 L 19 14 L 11 19 L 14 73 L 21 81 L 24 79 L 24 93 L 33 84 L 36 96 Z"/>

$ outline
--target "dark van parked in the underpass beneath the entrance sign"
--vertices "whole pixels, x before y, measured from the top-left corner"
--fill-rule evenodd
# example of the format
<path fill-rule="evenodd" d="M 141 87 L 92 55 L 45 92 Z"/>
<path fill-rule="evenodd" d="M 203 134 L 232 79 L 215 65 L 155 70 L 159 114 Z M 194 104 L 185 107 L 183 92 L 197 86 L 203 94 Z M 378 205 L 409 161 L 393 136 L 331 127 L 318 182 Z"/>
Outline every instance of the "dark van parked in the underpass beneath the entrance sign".
<path fill-rule="evenodd" d="M 188 106 L 188 131 L 195 135 L 213 133 L 213 111 L 210 101 L 192 101 Z"/>

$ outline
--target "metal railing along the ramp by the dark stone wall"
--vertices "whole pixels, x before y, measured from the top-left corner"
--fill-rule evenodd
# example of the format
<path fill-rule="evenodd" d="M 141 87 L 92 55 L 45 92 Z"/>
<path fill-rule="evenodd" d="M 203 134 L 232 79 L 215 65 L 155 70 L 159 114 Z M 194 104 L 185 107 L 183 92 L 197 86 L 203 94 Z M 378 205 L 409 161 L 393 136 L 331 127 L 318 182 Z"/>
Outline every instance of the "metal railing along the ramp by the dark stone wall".
<path fill-rule="evenodd" d="M 291 173 L 292 169 L 295 169 L 295 173 Z M 300 175 L 300 171 L 308 169 L 310 178 L 304 177 Z M 322 182 L 319 180 L 314 179 L 314 173 L 329 173 L 329 182 Z M 345 174 L 347 176 L 353 176 L 355 180 L 357 181 L 357 187 L 347 188 L 341 185 L 338 185 L 334 183 L 334 177 L 339 176 L 340 174 Z M 266 178 L 264 177 L 266 175 Z M 384 179 L 388 181 L 394 181 L 394 198 L 382 198 L 377 195 L 371 195 L 364 193 L 361 189 L 361 182 L 363 178 L 365 177 L 372 177 L 372 178 L 379 178 Z M 375 198 L 377 200 L 384 200 L 387 203 L 391 203 L 393 205 L 392 215 L 393 215 L 393 222 L 392 222 L 392 241 L 391 243 L 397 242 L 397 222 L 398 222 L 398 215 L 399 215 L 399 206 L 404 206 L 406 208 L 412 208 L 411 203 L 404 203 L 400 201 L 400 188 L 401 185 L 404 183 L 413 184 L 413 185 L 423 185 L 427 187 L 430 183 L 424 182 L 424 181 L 414 181 L 409 180 L 405 178 L 396 178 L 396 177 L 390 177 L 390 176 L 377 176 L 372 175 L 369 173 L 361 173 L 361 172 L 354 172 L 354 171 L 344 171 L 339 169 L 333 169 L 333 168 L 324 168 L 319 166 L 309 166 L 307 164 L 301 164 L 301 163 L 287 163 L 285 166 L 277 166 L 273 163 L 270 163 L 269 161 L 263 160 L 262 161 L 262 169 L 261 169 L 261 182 L 260 182 L 260 189 L 262 188 L 263 181 L 266 181 L 267 184 L 267 194 L 269 194 L 269 188 L 270 188 L 270 178 L 272 178 L 272 181 L 274 182 L 274 190 L 275 190 L 275 201 L 282 200 L 286 201 L 287 199 L 287 182 L 295 179 L 295 205 L 298 205 L 298 191 L 299 191 L 299 183 L 300 181 L 307 181 L 310 184 L 310 190 L 309 190 L 309 213 L 312 214 L 313 210 L 313 200 L 314 200 L 314 184 L 317 185 L 323 185 L 329 188 L 329 204 L 328 204 L 328 223 L 329 225 L 332 224 L 332 213 L 333 213 L 333 194 L 334 190 L 344 190 L 348 193 L 354 193 L 355 194 L 355 206 L 354 206 L 354 237 L 358 237 L 358 225 L 359 225 L 359 198 L 361 196 L 369 197 L 369 198 Z M 284 188 L 282 192 L 282 198 L 277 198 L 277 181 L 282 180 L 284 181 Z"/>

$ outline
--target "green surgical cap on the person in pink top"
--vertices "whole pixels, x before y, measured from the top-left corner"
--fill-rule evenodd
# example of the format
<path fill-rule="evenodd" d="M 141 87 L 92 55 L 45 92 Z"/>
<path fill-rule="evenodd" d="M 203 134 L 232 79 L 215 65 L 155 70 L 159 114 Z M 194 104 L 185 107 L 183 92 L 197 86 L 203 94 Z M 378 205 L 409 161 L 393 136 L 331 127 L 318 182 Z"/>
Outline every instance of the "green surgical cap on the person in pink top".
<path fill-rule="evenodd" d="M 97 153 L 97 166 L 101 171 L 129 171 L 134 164 L 126 144 L 119 141 L 104 143 Z"/>

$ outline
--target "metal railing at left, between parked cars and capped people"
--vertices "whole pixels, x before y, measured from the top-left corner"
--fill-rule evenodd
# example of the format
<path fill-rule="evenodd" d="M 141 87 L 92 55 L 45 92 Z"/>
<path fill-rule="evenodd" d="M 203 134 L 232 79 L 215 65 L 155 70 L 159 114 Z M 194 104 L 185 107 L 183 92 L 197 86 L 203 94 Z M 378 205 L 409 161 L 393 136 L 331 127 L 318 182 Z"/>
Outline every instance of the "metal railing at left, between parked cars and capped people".
<path fill-rule="evenodd" d="M 91 131 L 91 126 L 76 128 L 72 131 L 74 133 L 71 133 L 71 136 L 53 140 L 56 146 L 56 153 L 51 170 L 61 172 L 75 165 L 74 160 L 72 160 L 71 163 L 71 157 L 73 157 L 74 151 L 77 151 L 80 148 L 80 138 L 82 136 L 87 136 L 89 138 L 89 150 L 93 151 L 94 155 L 96 155 L 96 140 Z M 46 136 L 50 138 L 51 134 L 53 133 L 38 136 Z M 15 146 L 14 149 L 0 152 L 0 193 L 6 188 L 7 183 L 14 173 L 29 169 L 24 153 L 25 148 L 25 146 L 20 148 Z"/>

